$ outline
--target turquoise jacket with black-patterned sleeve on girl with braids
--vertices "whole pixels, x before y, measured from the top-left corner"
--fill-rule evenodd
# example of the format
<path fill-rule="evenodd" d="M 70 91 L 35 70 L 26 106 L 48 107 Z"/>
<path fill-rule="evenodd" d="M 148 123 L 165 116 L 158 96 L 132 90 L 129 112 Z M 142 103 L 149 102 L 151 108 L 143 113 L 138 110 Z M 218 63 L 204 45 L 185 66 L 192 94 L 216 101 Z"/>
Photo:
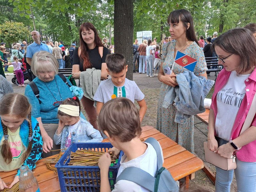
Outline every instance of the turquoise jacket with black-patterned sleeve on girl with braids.
<path fill-rule="evenodd" d="M 1 117 L 0 117 L 1 121 Z M 36 162 L 41 159 L 41 155 L 43 153 L 43 140 L 42 135 L 40 132 L 39 124 L 37 120 L 34 117 L 31 117 L 31 123 L 32 123 L 32 149 L 28 156 L 28 158 L 25 160 L 23 165 L 28 165 L 29 169 L 33 170 L 36 168 Z M 24 120 L 23 123 L 20 125 L 20 138 L 22 144 L 25 146 L 25 148 L 28 148 L 28 121 Z M 4 137 L 3 132 L 3 126 L 0 124 L 0 141 Z M 18 170 L 17 175 L 20 175 L 20 170 Z"/>

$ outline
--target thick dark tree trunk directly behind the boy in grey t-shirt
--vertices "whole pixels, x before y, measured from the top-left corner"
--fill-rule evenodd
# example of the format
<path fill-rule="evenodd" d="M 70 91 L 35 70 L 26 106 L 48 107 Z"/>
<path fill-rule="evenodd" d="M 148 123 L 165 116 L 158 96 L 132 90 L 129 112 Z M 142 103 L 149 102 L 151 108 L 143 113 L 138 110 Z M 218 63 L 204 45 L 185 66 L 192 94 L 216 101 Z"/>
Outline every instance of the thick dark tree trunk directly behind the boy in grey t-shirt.
<path fill-rule="evenodd" d="M 115 53 L 124 55 L 128 65 L 127 79 L 132 80 L 133 1 L 114 0 Z"/>

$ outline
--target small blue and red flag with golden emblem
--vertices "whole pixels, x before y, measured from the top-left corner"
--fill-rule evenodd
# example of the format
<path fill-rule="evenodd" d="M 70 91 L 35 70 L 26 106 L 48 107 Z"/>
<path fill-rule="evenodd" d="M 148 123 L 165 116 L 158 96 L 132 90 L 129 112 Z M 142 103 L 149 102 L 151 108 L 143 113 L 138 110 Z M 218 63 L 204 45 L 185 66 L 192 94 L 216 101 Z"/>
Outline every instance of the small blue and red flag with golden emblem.
<path fill-rule="evenodd" d="M 189 57 L 188 55 L 185 55 L 184 53 L 177 51 L 175 63 L 179 64 L 180 66 L 193 72 L 196 66 L 196 62 L 196 59 L 193 59 L 192 57 Z"/>

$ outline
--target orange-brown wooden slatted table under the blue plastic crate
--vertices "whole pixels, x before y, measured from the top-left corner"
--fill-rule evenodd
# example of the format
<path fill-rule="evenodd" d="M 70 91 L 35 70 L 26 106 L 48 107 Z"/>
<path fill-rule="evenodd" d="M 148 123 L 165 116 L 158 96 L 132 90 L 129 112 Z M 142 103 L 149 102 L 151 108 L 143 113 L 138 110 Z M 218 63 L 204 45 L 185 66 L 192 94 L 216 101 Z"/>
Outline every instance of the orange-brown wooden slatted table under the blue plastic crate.
<path fill-rule="evenodd" d="M 154 137 L 160 143 L 163 149 L 164 167 L 171 172 L 174 180 L 185 178 L 185 185 L 188 188 L 189 179 L 193 179 L 195 172 L 204 167 L 203 161 L 152 126 L 142 127 L 140 139 L 146 140 L 148 137 Z M 44 159 L 39 160 L 36 163 L 36 169 L 33 170 L 40 191 L 60 191 L 58 174 L 48 170 L 43 161 Z M 17 171 L 0 172 L 0 177 L 7 185 L 10 185 L 16 174 Z"/>

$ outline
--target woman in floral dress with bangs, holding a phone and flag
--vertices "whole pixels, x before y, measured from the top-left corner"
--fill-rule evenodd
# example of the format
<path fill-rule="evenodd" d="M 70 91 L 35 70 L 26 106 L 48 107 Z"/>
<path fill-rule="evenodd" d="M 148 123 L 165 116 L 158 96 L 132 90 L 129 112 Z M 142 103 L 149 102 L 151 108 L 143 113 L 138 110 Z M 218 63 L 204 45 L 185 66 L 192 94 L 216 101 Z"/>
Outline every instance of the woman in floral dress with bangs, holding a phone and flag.
<path fill-rule="evenodd" d="M 169 32 L 174 41 L 167 42 L 163 46 L 162 62 L 158 74 L 158 79 L 163 84 L 158 101 L 156 129 L 194 153 L 194 116 L 191 116 L 186 124 L 177 124 L 174 122 L 176 107 L 173 105 L 170 105 L 169 108 L 162 107 L 169 86 L 175 87 L 178 85 L 175 74 L 182 73 L 187 69 L 174 63 L 172 74 L 166 75 L 164 74 L 164 68 L 168 66 L 172 68 L 176 52 L 179 51 L 197 60 L 194 69 L 195 75 L 207 78 L 204 52 L 198 46 L 190 12 L 185 9 L 173 11 L 167 21 L 170 25 Z"/>

